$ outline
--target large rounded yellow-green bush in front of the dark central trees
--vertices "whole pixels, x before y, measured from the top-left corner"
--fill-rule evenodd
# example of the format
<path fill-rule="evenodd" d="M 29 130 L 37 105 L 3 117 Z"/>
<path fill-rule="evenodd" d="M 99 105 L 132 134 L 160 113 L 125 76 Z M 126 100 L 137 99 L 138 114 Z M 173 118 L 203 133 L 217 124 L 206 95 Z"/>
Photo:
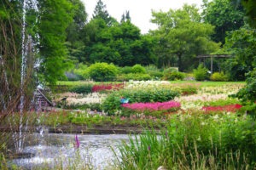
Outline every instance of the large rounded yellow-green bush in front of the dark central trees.
<path fill-rule="evenodd" d="M 118 69 L 113 64 L 109 65 L 108 63 L 96 63 L 90 65 L 88 68 L 88 73 L 96 82 L 108 82 L 115 79 Z"/>

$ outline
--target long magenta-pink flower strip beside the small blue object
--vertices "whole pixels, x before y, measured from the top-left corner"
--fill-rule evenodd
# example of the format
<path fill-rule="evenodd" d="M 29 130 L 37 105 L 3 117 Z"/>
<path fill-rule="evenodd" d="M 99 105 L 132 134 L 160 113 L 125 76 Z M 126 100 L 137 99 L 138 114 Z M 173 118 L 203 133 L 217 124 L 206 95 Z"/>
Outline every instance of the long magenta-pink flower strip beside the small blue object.
<path fill-rule="evenodd" d="M 123 104 L 125 108 L 135 111 L 168 111 L 173 108 L 179 108 L 180 103 L 176 101 L 166 101 L 163 103 L 134 103 L 134 104 Z"/>

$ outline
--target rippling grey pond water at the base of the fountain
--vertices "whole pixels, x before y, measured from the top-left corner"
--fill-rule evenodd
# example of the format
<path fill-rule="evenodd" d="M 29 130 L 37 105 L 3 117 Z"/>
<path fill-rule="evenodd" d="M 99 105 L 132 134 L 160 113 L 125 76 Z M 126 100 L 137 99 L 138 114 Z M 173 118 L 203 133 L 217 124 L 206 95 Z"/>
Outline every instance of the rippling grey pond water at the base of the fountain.
<path fill-rule="evenodd" d="M 128 141 L 126 134 L 79 134 L 79 149 L 74 147 L 75 134 L 33 133 L 26 138 L 24 153 L 31 153 L 29 158 L 12 160 L 19 167 L 32 169 L 70 164 L 89 165 L 92 169 L 104 169 L 113 165 L 113 150 L 117 150 L 122 140 Z M 113 149 L 113 150 L 112 150 Z"/>

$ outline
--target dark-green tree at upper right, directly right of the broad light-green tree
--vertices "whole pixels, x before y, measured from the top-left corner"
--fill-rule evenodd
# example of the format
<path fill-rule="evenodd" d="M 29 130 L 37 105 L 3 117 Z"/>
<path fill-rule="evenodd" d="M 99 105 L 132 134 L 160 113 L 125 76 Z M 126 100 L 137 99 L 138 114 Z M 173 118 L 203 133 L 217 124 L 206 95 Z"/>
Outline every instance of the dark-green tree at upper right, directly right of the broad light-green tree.
<path fill-rule="evenodd" d="M 235 8 L 230 0 L 204 0 L 203 19 L 215 26 L 212 40 L 224 44 L 226 32 L 234 31 L 244 25 L 244 10 L 240 6 Z"/>

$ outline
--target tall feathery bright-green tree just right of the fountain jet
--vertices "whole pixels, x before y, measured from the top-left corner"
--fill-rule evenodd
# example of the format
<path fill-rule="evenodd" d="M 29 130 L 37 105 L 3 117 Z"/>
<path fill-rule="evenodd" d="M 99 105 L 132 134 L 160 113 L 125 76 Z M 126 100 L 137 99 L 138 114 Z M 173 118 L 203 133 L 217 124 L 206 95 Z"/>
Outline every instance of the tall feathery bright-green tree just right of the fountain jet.
<path fill-rule="evenodd" d="M 64 77 L 67 62 L 66 29 L 72 21 L 72 4 L 67 0 L 42 0 L 39 4 L 40 73 L 46 82 Z"/>

